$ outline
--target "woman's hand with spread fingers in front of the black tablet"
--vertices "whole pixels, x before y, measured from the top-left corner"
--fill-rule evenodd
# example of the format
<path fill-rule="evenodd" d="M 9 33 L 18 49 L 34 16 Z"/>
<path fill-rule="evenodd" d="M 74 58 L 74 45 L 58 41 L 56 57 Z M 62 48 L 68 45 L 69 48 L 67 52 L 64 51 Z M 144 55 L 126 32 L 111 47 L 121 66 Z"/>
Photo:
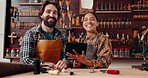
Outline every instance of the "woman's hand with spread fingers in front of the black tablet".
<path fill-rule="evenodd" d="M 66 56 L 69 56 L 72 59 L 75 59 L 78 62 L 84 63 L 87 61 L 84 51 L 82 51 L 82 55 L 78 54 L 75 50 L 73 50 L 74 54 L 67 52 Z"/>

